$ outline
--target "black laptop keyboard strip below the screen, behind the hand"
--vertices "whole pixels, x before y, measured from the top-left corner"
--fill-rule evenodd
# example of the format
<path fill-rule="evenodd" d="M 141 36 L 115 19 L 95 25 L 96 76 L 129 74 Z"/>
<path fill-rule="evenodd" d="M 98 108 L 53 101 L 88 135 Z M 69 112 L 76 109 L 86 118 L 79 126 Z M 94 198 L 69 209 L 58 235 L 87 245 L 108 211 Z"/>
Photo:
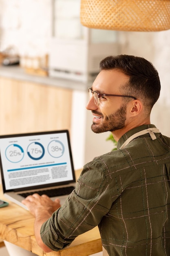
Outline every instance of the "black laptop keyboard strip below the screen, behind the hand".
<path fill-rule="evenodd" d="M 26 192 L 21 193 L 19 195 L 22 195 L 24 198 L 26 198 L 28 195 L 33 195 L 34 193 L 38 193 L 39 195 L 48 195 L 49 198 L 61 196 L 61 195 L 69 195 L 75 188 L 73 186 L 68 186 L 64 188 L 58 188 L 58 189 L 47 189 L 47 190 L 41 190 L 41 191 L 33 191 L 33 192 Z"/>

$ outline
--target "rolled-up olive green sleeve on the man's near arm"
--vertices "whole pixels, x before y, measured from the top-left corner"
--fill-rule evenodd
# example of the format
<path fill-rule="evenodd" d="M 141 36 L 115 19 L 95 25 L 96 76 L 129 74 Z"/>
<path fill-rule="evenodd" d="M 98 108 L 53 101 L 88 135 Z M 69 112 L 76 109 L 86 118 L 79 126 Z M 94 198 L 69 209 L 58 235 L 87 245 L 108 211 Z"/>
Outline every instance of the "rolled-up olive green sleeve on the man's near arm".
<path fill-rule="evenodd" d="M 75 190 L 41 227 L 41 238 L 54 251 L 70 245 L 80 234 L 93 229 L 109 211 L 109 183 L 100 161 L 84 166 Z"/>

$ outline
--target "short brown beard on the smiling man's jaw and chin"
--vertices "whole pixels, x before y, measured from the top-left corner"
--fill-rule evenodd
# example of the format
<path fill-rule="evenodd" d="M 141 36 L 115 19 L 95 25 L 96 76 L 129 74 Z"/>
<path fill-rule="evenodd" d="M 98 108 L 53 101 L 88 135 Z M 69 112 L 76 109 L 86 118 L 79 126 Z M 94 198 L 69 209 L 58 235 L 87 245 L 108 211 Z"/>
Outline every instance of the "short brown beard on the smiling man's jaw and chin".
<path fill-rule="evenodd" d="M 95 111 L 93 111 L 95 114 Z M 126 105 L 124 104 L 114 114 L 105 117 L 105 120 L 101 124 L 93 122 L 91 129 L 95 133 L 101 132 L 113 132 L 124 128 L 126 121 Z"/>

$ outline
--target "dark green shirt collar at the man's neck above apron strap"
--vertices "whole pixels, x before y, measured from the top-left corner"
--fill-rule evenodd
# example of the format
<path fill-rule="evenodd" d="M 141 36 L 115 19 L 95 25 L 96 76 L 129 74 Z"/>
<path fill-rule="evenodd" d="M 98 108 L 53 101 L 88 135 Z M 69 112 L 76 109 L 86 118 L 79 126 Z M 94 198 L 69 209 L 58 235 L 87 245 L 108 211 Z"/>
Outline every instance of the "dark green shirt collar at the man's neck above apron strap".
<path fill-rule="evenodd" d="M 126 132 L 117 141 L 117 149 L 119 149 L 130 136 L 132 136 L 136 132 L 139 132 L 141 130 L 145 130 L 145 129 L 148 129 L 148 128 L 156 128 L 156 126 L 153 125 L 153 124 L 145 124 L 145 125 L 142 125 L 142 126 L 135 127 L 132 130 L 129 130 L 128 132 Z"/>

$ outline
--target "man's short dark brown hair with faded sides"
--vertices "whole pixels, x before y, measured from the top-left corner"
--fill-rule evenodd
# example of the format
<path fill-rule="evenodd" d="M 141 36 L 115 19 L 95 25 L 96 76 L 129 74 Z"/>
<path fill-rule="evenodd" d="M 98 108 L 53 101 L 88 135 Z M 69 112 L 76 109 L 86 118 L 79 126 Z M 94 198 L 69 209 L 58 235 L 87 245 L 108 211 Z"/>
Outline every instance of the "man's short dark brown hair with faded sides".
<path fill-rule="evenodd" d="M 108 56 L 100 62 L 101 70 L 117 69 L 129 76 L 121 90 L 125 95 L 141 99 L 148 112 L 159 98 L 160 80 L 155 67 L 145 58 L 132 55 Z"/>

